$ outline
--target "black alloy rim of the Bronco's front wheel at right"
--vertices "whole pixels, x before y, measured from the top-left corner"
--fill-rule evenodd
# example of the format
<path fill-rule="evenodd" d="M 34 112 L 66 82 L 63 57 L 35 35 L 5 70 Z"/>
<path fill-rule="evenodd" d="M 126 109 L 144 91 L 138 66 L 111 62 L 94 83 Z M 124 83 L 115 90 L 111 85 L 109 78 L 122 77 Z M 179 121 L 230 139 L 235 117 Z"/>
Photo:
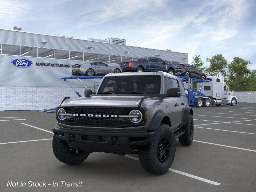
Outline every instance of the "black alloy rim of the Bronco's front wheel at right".
<path fill-rule="evenodd" d="M 170 153 L 170 143 L 168 138 L 164 135 L 160 138 L 157 147 L 157 158 L 163 163 L 166 161 Z"/>

